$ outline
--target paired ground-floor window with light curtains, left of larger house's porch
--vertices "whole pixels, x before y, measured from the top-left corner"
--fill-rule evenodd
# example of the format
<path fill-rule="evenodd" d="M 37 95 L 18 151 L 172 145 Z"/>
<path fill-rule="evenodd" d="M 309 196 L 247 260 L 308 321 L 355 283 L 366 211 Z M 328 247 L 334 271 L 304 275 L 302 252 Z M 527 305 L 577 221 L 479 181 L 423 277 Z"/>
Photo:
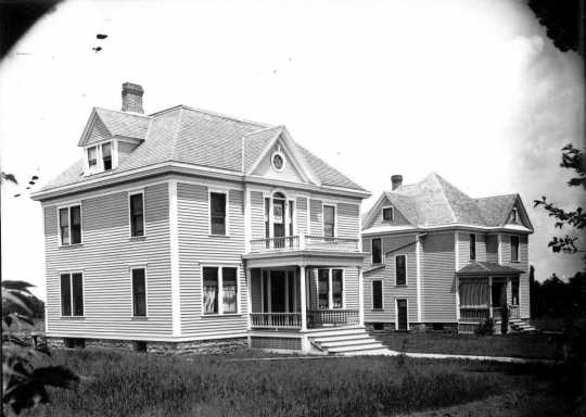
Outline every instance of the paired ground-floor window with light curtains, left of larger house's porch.
<path fill-rule="evenodd" d="M 238 268 L 204 266 L 203 314 L 238 313 Z"/>

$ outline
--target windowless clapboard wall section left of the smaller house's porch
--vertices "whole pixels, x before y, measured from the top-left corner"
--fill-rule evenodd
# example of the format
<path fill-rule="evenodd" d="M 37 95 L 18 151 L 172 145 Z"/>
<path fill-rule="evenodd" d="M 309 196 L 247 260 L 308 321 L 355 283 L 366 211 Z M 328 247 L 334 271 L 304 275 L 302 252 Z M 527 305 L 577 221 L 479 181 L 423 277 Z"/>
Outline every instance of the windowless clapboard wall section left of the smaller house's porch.
<path fill-rule="evenodd" d="M 421 299 L 424 323 L 456 321 L 454 232 L 422 239 Z"/>

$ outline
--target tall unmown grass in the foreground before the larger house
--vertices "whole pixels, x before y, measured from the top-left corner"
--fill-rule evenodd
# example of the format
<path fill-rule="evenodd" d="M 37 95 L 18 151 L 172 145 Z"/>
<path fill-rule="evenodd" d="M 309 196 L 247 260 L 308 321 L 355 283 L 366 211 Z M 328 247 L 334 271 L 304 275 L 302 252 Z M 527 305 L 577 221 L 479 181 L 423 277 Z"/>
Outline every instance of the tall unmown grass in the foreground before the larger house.
<path fill-rule="evenodd" d="M 378 416 L 543 390 L 526 366 L 385 356 L 231 358 L 56 351 L 51 362 L 85 380 L 77 392 L 52 390 L 47 415 Z"/>

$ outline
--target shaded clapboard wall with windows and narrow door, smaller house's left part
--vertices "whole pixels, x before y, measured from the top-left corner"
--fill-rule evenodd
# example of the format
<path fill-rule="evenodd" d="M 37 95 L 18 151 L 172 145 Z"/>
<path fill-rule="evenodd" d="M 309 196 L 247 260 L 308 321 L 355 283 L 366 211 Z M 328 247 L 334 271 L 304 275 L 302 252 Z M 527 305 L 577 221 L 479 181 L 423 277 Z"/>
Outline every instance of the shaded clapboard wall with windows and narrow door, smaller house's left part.
<path fill-rule="evenodd" d="M 365 252 L 371 251 L 372 239 L 362 240 Z M 415 235 L 385 236 L 382 238 L 382 251 L 384 253 L 384 268 L 366 273 L 365 285 L 365 321 L 367 323 L 394 323 L 395 300 L 408 300 L 409 323 L 417 323 L 417 253 Z M 395 256 L 406 255 L 407 285 L 395 285 Z M 371 265 L 371 256 L 365 260 L 365 266 Z M 372 309 L 372 281 L 382 280 L 383 311 Z"/>

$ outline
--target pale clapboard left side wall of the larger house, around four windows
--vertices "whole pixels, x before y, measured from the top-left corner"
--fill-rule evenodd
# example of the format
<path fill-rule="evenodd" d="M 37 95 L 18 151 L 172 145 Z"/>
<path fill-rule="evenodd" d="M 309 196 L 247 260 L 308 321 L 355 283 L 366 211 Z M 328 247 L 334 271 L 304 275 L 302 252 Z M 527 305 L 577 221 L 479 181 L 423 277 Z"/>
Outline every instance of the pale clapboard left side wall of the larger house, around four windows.
<path fill-rule="evenodd" d="M 59 247 L 58 211 L 46 203 L 47 334 L 82 338 L 165 337 L 171 333 L 167 184 L 144 187 L 145 237 L 130 239 L 128 192 L 80 194 L 82 244 Z M 137 187 L 137 185 L 133 185 Z M 51 205 L 49 205 L 51 204 Z M 130 265 L 145 265 L 148 318 L 132 317 Z M 84 274 L 84 318 L 61 317 L 60 274 Z"/>

